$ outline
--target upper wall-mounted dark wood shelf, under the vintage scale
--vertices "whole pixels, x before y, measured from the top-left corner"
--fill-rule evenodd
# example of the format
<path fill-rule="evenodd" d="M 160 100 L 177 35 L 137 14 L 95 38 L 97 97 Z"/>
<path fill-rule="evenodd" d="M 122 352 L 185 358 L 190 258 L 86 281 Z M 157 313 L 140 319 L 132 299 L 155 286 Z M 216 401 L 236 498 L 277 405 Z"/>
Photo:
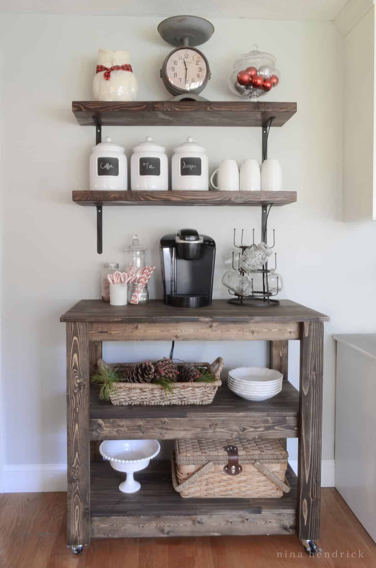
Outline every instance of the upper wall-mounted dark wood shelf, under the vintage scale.
<path fill-rule="evenodd" d="M 73 101 L 79 124 L 94 126 L 263 126 L 274 116 L 273 127 L 283 126 L 296 112 L 296 103 L 145 101 Z"/>

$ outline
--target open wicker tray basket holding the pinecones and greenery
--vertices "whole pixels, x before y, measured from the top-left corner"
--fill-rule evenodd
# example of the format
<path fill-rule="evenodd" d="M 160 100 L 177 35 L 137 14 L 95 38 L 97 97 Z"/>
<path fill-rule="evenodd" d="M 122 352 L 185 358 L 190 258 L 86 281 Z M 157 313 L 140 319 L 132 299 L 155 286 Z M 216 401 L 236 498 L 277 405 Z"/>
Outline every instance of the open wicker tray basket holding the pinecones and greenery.
<path fill-rule="evenodd" d="M 99 359 L 98 368 L 101 366 L 110 367 L 110 369 L 119 373 L 126 374 L 135 364 L 131 363 L 114 363 L 106 364 L 103 359 Z M 182 367 L 186 363 L 178 363 L 177 367 Z M 110 394 L 110 400 L 115 406 L 126 406 L 127 404 L 141 405 L 161 405 L 168 406 L 170 404 L 210 404 L 213 402 L 215 393 L 222 385 L 220 381 L 220 373 L 223 369 L 223 358 L 217 357 L 210 365 L 209 363 L 190 363 L 194 367 L 205 367 L 212 375 L 216 377 L 216 381 L 206 382 L 187 382 L 187 383 L 171 383 L 172 392 L 166 392 L 161 385 L 153 383 L 114 383 L 114 390 Z"/>

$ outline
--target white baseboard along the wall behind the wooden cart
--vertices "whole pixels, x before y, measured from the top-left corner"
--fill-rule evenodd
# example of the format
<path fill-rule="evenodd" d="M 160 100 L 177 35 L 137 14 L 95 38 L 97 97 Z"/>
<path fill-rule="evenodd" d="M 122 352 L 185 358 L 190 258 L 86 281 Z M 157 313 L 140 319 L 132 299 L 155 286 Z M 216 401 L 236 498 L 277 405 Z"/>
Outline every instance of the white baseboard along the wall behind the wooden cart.
<path fill-rule="evenodd" d="M 298 470 L 298 461 L 289 460 L 293 470 Z M 334 487 L 334 460 L 321 461 L 321 487 Z M 66 491 L 65 463 L 35 463 L 31 465 L 5 465 L 3 469 L 5 493 L 39 491 Z"/>

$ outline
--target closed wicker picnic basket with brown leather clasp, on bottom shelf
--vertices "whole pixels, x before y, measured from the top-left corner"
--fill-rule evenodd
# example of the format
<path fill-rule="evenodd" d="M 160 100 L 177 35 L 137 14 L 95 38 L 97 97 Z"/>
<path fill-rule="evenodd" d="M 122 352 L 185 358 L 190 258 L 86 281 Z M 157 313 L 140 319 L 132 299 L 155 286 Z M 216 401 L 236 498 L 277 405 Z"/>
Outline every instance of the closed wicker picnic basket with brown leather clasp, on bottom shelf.
<path fill-rule="evenodd" d="M 173 486 L 182 497 L 282 497 L 289 454 L 279 440 L 176 440 Z"/>

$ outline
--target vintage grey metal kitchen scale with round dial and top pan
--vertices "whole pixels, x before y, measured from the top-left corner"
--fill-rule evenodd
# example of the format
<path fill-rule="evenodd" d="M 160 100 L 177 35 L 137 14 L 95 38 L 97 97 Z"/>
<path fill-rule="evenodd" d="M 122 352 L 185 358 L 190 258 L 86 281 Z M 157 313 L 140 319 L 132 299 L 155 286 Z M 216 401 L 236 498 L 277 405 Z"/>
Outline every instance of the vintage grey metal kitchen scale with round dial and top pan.
<path fill-rule="evenodd" d="M 196 45 L 202 45 L 214 33 L 211 22 L 198 16 L 172 16 L 158 26 L 161 37 L 176 49 L 166 57 L 161 79 L 175 95 L 173 101 L 206 101 L 199 93 L 210 79 L 208 60 Z"/>

